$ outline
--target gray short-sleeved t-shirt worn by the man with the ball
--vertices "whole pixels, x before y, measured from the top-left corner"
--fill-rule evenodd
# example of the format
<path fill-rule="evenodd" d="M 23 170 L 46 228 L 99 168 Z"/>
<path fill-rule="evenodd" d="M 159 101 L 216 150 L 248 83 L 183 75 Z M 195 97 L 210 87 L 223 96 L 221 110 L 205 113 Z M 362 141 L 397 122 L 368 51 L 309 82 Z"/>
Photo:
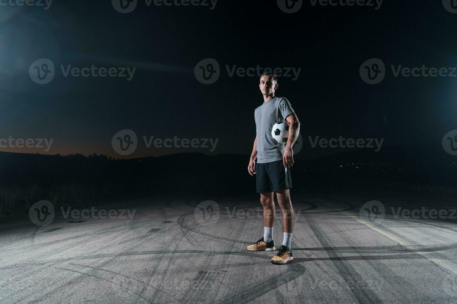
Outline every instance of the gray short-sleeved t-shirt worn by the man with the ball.
<path fill-rule="evenodd" d="M 257 163 L 270 163 L 282 160 L 285 144 L 278 144 L 271 136 L 273 125 L 287 116 L 295 114 L 289 101 L 284 97 L 275 97 L 263 103 L 254 111 L 257 131 Z"/>

